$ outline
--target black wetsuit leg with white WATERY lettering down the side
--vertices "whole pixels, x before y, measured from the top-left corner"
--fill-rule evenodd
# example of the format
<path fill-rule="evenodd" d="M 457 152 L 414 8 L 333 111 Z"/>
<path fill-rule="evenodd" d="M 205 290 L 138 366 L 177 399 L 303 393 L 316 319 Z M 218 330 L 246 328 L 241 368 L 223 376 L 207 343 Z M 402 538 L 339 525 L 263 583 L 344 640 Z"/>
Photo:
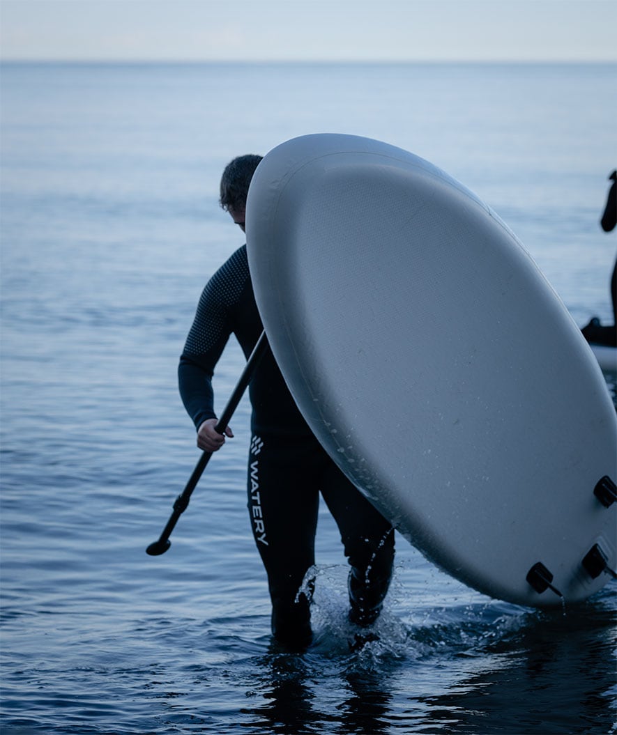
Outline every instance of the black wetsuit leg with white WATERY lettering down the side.
<path fill-rule="evenodd" d="M 252 437 L 249 453 L 249 516 L 268 575 L 274 639 L 304 648 L 312 639 L 310 596 L 299 594 L 315 564 L 318 487 L 302 437 Z"/>

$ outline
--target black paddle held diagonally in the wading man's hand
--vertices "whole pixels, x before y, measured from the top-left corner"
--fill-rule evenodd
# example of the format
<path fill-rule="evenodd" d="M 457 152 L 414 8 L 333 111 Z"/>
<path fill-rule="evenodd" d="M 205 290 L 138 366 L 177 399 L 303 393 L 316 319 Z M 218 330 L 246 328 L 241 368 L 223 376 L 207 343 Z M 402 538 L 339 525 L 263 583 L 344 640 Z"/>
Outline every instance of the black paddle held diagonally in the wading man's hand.
<path fill-rule="evenodd" d="M 259 340 L 257 340 L 257 344 L 255 345 L 251 356 L 246 361 L 246 365 L 244 366 L 244 370 L 242 371 L 242 375 L 240 376 L 238 385 L 236 385 L 231 397 L 229 398 L 229 401 L 227 402 L 227 406 L 225 406 L 225 409 L 221 414 L 221 418 L 218 420 L 216 426 L 214 427 L 215 431 L 218 431 L 219 434 L 223 434 L 225 429 L 227 429 L 227 424 L 229 423 L 233 412 L 238 407 L 238 404 L 240 403 L 240 398 L 242 398 L 246 387 L 249 385 L 255 368 L 257 368 L 257 364 L 263 357 L 263 354 L 265 353 L 267 347 L 268 340 L 265 337 L 265 331 L 263 331 L 261 337 L 259 338 Z M 208 451 L 204 451 L 201 454 L 199 462 L 197 462 L 195 469 L 193 470 L 193 474 L 190 476 L 185 489 L 182 490 L 182 493 L 176 498 L 176 501 L 174 503 L 174 512 L 169 517 L 167 526 L 163 528 L 163 533 L 160 534 L 160 538 L 158 539 L 158 541 L 154 541 L 146 549 L 146 553 L 149 553 L 150 556 L 159 556 L 160 554 L 165 553 L 165 551 L 167 551 L 168 548 L 171 546 L 171 541 L 169 540 L 171 531 L 174 530 L 174 526 L 176 526 L 179 517 L 187 509 L 190 495 L 193 490 L 195 490 L 196 484 L 199 482 L 199 478 L 201 477 L 201 473 L 203 473 L 204 469 L 206 468 L 206 465 L 211 456 L 212 452 Z"/>

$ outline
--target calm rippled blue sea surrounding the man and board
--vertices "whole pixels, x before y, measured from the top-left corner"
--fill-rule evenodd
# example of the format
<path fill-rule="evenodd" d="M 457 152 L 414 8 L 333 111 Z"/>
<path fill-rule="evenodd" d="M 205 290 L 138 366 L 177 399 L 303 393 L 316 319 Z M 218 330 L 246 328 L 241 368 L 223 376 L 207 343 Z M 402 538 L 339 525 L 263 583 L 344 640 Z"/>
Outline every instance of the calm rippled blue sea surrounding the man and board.
<path fill-rule="evenodd" d="M 4 65 L 0 82 L 2 732 L 617 732 L 616 583 L 543 614 L 399 537 L 381 639 L 349 653 L 325 511 L 315 645 L 271 650 L 246 401 L 171 550 L 145 553 L 199 457 L 176 364 L 243 243 L 217 204 L 229 159 L 312 132 L 407 148 L 502 216 L 577 323 L 607 320 L 617 68 Z M 230 344 L 219 407 L 241 368 Z"/>

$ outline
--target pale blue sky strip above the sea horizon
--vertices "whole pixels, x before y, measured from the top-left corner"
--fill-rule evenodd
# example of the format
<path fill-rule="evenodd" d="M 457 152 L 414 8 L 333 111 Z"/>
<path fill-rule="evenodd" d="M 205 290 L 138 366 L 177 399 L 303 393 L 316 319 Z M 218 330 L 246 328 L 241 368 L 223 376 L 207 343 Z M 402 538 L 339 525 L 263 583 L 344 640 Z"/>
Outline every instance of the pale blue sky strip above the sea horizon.
<path fill-rule="evenodd" d="M 616 0 L 0 0 L 43 60 L 617 60 Z"/>

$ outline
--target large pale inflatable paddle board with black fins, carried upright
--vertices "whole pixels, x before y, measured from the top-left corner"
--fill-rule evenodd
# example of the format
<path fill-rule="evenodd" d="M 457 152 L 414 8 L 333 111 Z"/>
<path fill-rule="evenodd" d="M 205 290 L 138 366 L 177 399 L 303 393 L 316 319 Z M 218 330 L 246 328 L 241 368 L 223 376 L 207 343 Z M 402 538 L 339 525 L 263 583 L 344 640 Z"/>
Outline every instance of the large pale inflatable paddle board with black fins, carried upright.
<path fill-rule="evenodd" d="M 400 148 L 308 135 L 260 162 L 246 234 L 299 409 L 413 545 L 527 606 L 609 581 L 616 411 L 578 327 L 491 209 Z"/>

